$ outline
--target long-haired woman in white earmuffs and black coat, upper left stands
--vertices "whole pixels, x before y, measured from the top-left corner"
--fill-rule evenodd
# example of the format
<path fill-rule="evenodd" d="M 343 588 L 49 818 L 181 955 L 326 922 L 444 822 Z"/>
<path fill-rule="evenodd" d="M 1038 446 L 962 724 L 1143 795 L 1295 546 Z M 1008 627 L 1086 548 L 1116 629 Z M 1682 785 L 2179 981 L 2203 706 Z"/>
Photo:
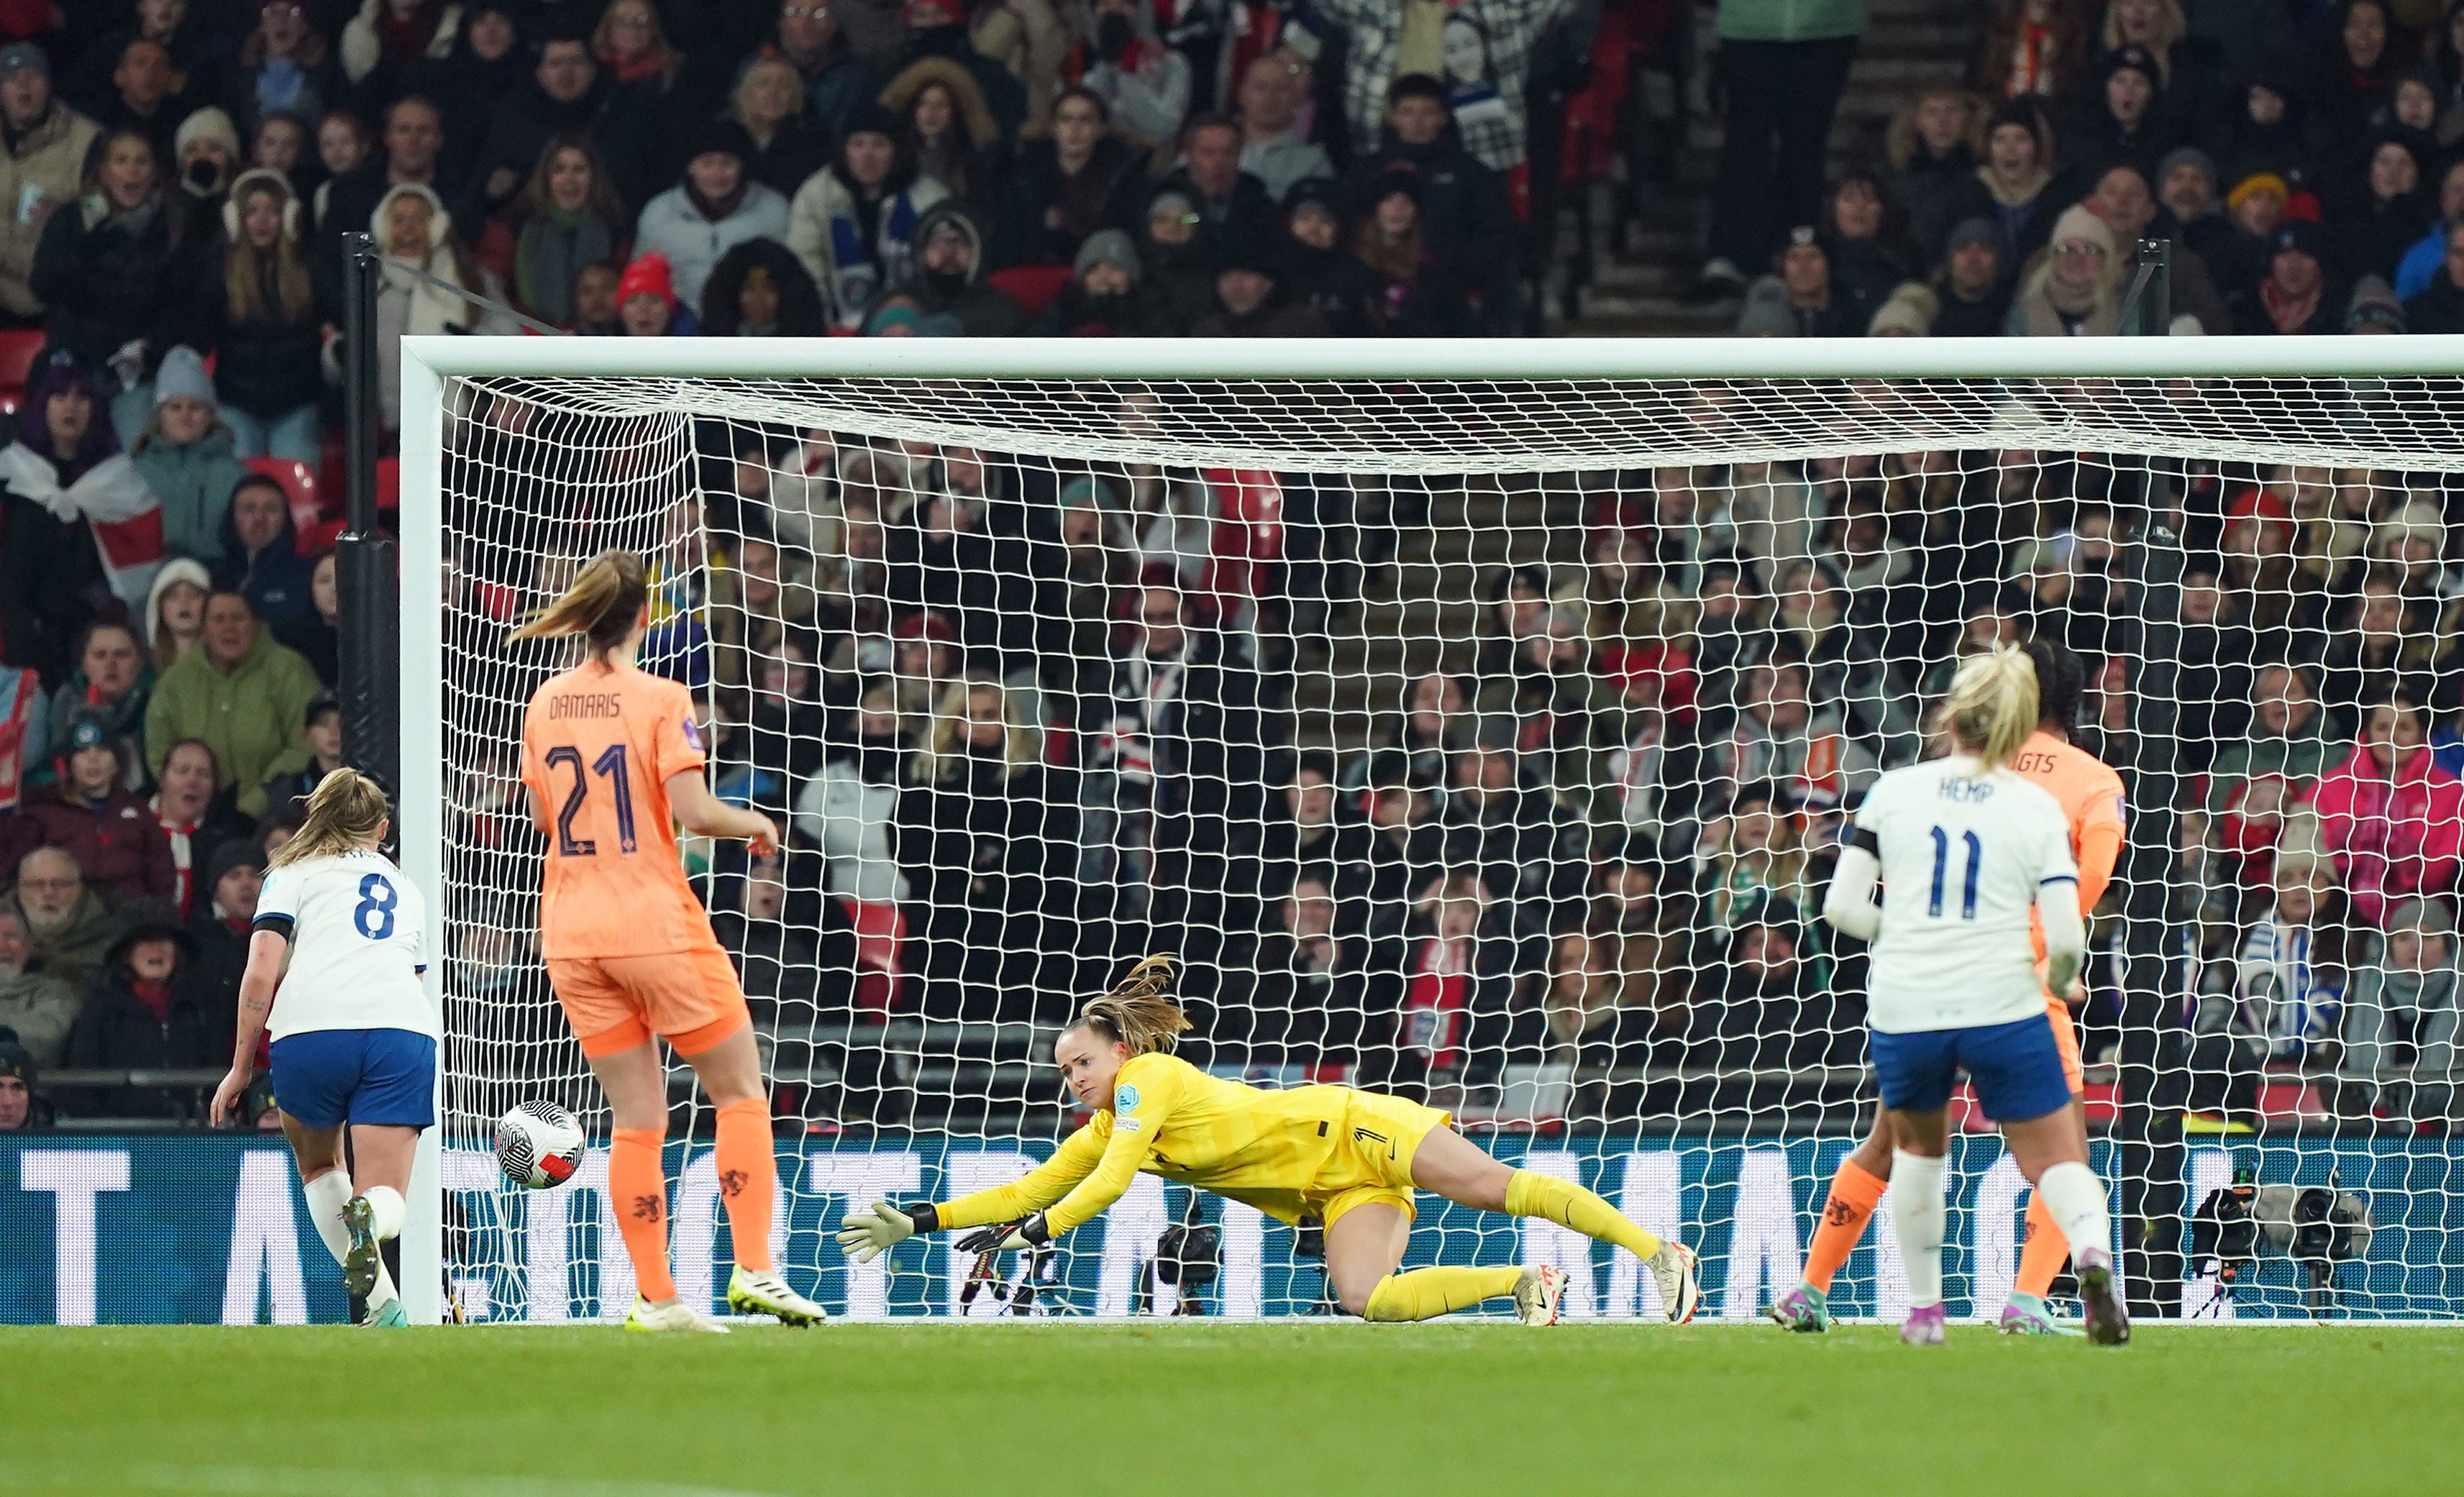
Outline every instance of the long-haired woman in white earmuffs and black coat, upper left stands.
<path fill-rule="evenodd" d="M 308 276 L 306 214 L 291 182 L 259 167 L 232 185 L 222 224 L 222 273 L 207 298 L 207 327 L 214 340 L 212 394 L 229 426 L 229 453 L 315 465 L 325 318 Z M 160 399 L 158 384 L 155 401 Z M 222 490 L 227 495 L 229 488 Z M 200 544 L 212 539 L 212 524 L 202 532 Z M 165 539 L 180 552 L 180 542 Z M 214 559 L 202 552 L 182 554 Z"/>

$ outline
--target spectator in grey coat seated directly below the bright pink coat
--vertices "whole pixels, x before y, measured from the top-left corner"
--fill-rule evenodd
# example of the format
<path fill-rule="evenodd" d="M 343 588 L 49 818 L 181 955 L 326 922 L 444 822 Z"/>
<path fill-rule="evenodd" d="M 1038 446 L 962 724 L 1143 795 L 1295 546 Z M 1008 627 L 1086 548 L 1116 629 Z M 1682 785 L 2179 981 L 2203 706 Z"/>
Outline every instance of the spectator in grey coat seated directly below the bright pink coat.
<path fill-rule="evenodd" d="M 2336 1110 L 2444 1128 L 2464 1123 L 2454 916 L 2437 899 L 2405 899 L 2365 948 L 2346 992 Z"/>

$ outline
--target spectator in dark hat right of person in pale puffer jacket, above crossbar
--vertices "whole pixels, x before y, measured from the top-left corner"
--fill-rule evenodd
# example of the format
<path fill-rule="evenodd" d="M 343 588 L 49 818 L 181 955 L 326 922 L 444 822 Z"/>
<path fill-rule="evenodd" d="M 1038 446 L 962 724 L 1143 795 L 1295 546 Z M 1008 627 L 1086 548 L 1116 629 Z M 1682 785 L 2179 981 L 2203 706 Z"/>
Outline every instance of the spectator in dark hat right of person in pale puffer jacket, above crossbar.
<path fill-rule="evenodd" d="M 944 197 L 949 187 L 902 158 L 890 111 L 875 103 L 848 116 L 838 160 L 796 192 L 786 229 L 840 327 L 862 327 L 872 300 L 907 278 L 917 222 Z"/>

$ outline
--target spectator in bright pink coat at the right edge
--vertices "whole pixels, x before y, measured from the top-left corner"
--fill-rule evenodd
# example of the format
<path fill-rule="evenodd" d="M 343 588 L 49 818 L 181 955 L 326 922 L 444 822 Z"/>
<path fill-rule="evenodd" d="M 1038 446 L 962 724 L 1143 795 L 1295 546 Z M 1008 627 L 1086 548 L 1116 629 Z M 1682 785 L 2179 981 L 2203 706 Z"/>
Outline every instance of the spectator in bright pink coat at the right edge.
<path fill-rule="evenodd" d="M 2427 739 L 2430 714 L 2395 694 L 2370 707 L 2353 756 L 2311 793 L 2353 913 L 2380 928 L 2400 901 L 2444 894 L 2464 849 L 2464 781 L 2432 761 Z"/>

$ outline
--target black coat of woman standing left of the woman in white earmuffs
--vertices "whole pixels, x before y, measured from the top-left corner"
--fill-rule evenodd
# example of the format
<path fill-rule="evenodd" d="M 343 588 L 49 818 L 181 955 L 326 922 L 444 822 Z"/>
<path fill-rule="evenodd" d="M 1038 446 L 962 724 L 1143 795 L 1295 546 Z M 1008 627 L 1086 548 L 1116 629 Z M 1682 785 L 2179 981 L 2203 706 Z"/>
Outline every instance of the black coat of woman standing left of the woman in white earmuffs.
<path fill-rule="evenodd" d="M 145 374 L 165 350 L 197 342 L 202 288 L 214 263 L 214 224 L 185 192 L 155 190 L 136 209 L 106 197 L 67 202 L 34 249 L 34 298 L 52 347 L 101 369 L 126 342 L 145 345 Z"/>

